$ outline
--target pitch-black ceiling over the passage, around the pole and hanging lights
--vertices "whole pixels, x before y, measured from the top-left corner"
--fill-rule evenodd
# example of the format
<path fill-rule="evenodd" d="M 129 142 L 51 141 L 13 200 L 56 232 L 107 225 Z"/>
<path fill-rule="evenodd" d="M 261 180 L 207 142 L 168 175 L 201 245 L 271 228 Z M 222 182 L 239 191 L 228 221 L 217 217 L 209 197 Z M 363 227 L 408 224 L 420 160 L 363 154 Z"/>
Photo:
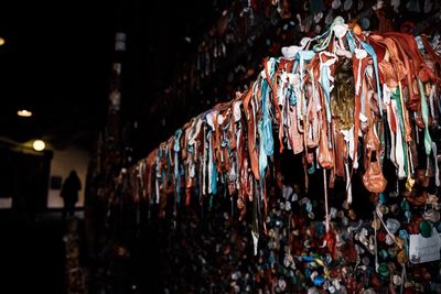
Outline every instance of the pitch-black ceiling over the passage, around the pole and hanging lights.
<path fill-rule="evenodd" d="M 184 37 L 201 33 L 212 3 L 150 2 L 0 2 L 0 138 L 88 148 L 106 121 L 117 30 L 127 33 L 123 104 L 161 90 L 193 50 Z M 22 108 L 34 117 L 19 118 Z"/>

